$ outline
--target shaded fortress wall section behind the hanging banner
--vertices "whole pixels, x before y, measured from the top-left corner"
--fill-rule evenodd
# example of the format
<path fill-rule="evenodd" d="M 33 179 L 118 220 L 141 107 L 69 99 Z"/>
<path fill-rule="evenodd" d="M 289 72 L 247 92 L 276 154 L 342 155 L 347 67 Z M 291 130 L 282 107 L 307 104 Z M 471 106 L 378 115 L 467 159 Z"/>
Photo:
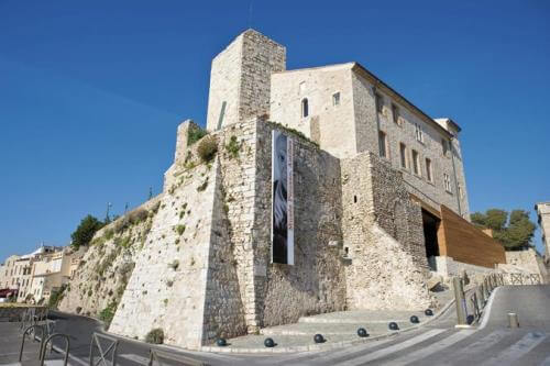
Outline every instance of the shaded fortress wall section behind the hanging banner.
<path fill-rule="evenodd" d="M 271 131 L 257 124 L 254 279 L 262 326 L 296 322 L 299 317 L 345 308 L 341 248 L 340 163 L 314 144 L 295 141 L 295 265 L 270 264 Z M 266 270 L 263 269 L 265 266 Z"/>

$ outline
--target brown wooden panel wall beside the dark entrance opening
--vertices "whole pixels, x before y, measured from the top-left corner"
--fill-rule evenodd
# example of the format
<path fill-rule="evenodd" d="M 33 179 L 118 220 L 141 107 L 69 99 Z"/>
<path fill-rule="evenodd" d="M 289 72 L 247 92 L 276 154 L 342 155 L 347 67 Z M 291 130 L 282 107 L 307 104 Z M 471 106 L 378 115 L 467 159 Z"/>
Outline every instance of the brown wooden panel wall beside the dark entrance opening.
<path fill-rule="evenodd" d="M 494 268 L 506 263 L 504 247 L 480 229 L 441 204 L 439 255 L 476 266 Z"/>

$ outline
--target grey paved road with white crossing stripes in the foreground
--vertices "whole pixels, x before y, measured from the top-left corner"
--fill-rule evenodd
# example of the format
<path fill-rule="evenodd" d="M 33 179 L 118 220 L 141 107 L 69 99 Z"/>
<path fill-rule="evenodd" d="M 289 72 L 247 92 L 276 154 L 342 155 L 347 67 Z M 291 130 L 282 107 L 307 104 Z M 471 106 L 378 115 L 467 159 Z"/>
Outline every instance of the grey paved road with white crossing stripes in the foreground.
<path fill-rule="evenodd" d="M 506 314 L 518 314 L 509 330 Z M 430 325 L 386 340 L 322 353 L 232 355 L 178 352 L 210 365 L 547 365 L 550 366 L 550 286 L 505 286 L 494 292 L 487 320 L 455 330 L 454 309 Z M 72 364 L 87 364 L 97 322 L 58 314 L 57 330 L 72 334 Z M 120 365 L 145 365 L 150 345 L 123 340 Z M 163 348 L 163 347 L 161 347 Z M 1 353 L 1 350 L 0 350 Z"/>

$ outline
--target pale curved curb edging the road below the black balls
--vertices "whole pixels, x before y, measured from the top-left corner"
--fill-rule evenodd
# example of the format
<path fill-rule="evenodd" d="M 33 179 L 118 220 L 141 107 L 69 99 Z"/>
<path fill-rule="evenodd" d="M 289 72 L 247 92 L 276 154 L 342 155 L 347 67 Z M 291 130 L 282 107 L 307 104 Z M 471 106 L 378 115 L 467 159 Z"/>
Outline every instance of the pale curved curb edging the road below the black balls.
<path fill-rule="evenodd" d="M 215 353 L 238 353 L 238 354 L 252 354 L 252 353 L 266 353 L 266 354 L 272 354 L 272 353 L 293 353 L 293 352 L 322 352 L 322 351 L 330 351 L 333 348 L 341 348 L 345 346 L 351 346 L 351 345 L 359 345 L 359 344 L 364 344 L 364 343 L 370 343 L 370 342 L 376 342 L 381 341 L 384 339 L 397 336 L 402 333 L 410 332 L 414 330 L 418 330 L 425 325 L 428 325 L 432 323 L 433 321 L 438 320 L 443 315 L 449 308 L 451 308 L 454 304 L 455 300 L 452 299 L 451 301 L 447 302 L 440 311 L 438 311 L 437 314 L 433 317 L 430 317 L 427 321 L 413 325 L 410 328 L 404 329 L 404 330 L 398 330 L 392 333 L 385 333 L 381 335 L 376 335 L 373 337 L 366 337 L 366 339 L 356 339 L 356 340 L 350 340 L 350 341 L 340 341 L 340 342 L 334 342 L 330 344 L 308 344 L 304 346 L 290 346 L 290 347 L 280 347 L 280 348 L 227 348 L 227 347 L 218 347 L 218 346 L 201 346 L 199 351 L 201 352 L 215 352 Z"/>

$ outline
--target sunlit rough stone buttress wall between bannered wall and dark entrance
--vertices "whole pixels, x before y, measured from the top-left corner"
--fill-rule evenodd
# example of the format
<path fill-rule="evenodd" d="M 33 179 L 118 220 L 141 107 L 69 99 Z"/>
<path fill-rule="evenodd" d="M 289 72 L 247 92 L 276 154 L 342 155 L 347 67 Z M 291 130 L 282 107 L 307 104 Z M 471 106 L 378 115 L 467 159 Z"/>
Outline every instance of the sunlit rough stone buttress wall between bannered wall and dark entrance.
<path fill-rule="evenodd" d="M 342 206 L 348 307 L 429 306 L 421 212 L 399 173 L 372 153 L 343 159 Z"/>

